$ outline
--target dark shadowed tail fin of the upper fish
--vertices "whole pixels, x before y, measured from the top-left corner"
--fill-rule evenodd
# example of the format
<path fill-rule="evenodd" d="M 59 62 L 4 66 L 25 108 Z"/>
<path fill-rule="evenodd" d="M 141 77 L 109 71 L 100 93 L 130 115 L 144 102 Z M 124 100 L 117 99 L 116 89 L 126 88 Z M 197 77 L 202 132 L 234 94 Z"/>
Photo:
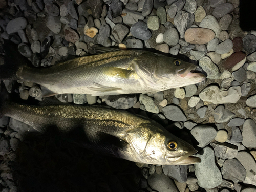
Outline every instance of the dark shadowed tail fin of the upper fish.
<path fill-rule="evenodd" d="M 0 66 L 0 79 L 18 80 L 28 60 L 19 53 L 17 46 L 10 40 L 5 40 L 4 50 L 5 62 Z"/>

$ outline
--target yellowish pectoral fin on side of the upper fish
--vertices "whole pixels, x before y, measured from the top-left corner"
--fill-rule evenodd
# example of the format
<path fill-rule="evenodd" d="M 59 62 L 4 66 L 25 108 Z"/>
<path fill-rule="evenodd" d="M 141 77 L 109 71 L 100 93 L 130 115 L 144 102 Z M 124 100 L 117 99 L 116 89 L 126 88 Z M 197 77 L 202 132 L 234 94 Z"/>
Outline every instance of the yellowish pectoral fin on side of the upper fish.
<path fill-rule="evenodd" d="M 116 68 L 116 67 L 104 67 L 101 70 L 105 75 L 108 75 L 111 77 L 120 77 L 124 79 L 128 79 L 130 75 L 135 73 L 132 70 Z"/>

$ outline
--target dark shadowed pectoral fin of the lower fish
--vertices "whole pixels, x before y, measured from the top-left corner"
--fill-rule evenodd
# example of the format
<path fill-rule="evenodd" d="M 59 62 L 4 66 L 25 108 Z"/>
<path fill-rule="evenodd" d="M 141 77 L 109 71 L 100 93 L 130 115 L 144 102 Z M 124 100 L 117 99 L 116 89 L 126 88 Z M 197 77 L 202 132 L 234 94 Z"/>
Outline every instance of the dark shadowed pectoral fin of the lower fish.
<path fill-rule="evenodd" d="M 104 143 L 112 144 L 118 148 L 124 148 L 128 143 L 125 141 L 110 135 L 108 133 L 104 133 L 101 131 L 96 132 L 96 135 L 100 138 L 100 140 Z"/>

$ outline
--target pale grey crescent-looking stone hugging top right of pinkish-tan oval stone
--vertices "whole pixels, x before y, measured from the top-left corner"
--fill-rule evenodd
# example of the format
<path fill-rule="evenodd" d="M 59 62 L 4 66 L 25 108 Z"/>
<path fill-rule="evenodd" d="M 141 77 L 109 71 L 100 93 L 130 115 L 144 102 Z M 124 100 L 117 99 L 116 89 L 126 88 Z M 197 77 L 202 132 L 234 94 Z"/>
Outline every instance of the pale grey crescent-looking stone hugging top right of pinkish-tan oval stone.
<path fill-rule="evenodd" d="M 207 15 L 202 22 L 200 23 L 199 27 L 211 29 L 215 32 L 215 37 L 218 38 L 221 32 L 220 26 L 218 21 L 214 16 Z M 208 50 L 209 51 L 209 50 Z"/>

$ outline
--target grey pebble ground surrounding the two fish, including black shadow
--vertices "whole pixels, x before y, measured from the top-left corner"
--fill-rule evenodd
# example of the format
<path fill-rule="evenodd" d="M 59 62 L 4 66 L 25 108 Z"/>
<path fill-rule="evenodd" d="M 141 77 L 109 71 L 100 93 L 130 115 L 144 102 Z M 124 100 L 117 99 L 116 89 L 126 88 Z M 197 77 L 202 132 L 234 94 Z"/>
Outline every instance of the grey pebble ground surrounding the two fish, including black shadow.
<path fill-rule="evenodd" d="M 87 55 L 99 44 L 182 54 L 207 75 L 155 94 L 55 96 L 124 109 L 163 126 L 175 122 L 174 134 L 194 145 L 200 164 L 115 159 L 3 117 L 2 191 L 256 191 L 256 31 L 239 27 L 238 6 L 239 0 L 1 0 L 1 44 L 14 42 L 35 67 Z M 4 83 L 22 102 L 42 100 L 33 82 Z"/>

